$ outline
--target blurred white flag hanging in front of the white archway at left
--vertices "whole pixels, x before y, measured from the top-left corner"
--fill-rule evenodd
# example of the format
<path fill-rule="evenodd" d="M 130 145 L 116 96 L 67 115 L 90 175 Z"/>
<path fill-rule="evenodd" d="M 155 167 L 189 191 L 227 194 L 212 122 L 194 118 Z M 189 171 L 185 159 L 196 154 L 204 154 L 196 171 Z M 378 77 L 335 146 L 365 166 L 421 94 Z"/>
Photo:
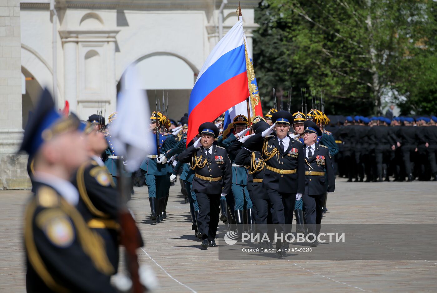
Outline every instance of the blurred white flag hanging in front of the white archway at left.
<path fill-rule="evenodd" d="M 149 130 L 149 100 L 146 90 L 141 90 L 137 73 L 131 65 L 122 77 L 117 119 L 111 123 L 114 147 L 123 155 L 128 172 L 138 170 L 146 155 L 156 148 Z"/>

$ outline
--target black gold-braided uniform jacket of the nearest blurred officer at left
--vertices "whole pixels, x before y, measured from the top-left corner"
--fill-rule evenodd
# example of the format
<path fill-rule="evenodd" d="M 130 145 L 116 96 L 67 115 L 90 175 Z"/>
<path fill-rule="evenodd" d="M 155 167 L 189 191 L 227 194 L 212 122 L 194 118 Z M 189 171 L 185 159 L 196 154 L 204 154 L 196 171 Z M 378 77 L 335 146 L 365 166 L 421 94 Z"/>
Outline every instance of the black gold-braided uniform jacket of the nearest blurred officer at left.
<path fill-rule="evenodd" d="M 24 224 L 27 292 L 117 292 L 97 234 L 52 186 L 38 179 L 35 185 Z"/>

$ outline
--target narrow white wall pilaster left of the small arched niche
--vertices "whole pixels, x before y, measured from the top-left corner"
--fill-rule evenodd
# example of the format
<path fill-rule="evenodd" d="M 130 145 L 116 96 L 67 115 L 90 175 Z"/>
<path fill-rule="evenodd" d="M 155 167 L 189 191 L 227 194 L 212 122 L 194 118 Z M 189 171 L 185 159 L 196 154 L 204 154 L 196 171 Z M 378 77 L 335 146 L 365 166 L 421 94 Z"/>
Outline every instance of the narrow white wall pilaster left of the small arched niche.
<path fill-rule="evenodd" d="M 64 97 L 70 112 L 77 113 L 77 43 L 64 42 Z"/>

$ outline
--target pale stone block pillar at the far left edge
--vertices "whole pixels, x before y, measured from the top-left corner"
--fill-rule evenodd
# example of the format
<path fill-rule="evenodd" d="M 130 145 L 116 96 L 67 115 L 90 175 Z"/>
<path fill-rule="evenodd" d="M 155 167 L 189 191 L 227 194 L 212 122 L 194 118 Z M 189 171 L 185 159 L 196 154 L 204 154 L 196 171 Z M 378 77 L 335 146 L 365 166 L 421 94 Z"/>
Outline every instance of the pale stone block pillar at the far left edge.
<path fill-rule="evenodd" d="M 0 1 L 0 190 L 30 187 L 22 123 L 20 1 Z"/>

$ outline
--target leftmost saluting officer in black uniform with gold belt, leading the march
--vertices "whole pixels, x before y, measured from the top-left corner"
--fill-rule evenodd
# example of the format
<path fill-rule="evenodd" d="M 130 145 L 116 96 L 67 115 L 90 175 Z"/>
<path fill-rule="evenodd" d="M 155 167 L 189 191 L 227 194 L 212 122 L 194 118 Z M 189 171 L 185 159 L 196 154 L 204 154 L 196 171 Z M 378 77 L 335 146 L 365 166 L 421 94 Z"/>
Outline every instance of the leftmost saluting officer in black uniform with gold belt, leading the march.
<path fill-rule="evenodd" d="M 179 161 L 191 163 L 194 170 L 192 189 L 196 193 L 200 213 L 198 217 L 199 231 L 202 233 L 203 249 L 217 247 L 218 217 L 220 214 L 220 197 L 231 192 L 232 169 L 226 150 L 213 145 L 218 136 L 218 128 L 211 122 L 199 127 L 201 137 L 180 153 Z"/>

